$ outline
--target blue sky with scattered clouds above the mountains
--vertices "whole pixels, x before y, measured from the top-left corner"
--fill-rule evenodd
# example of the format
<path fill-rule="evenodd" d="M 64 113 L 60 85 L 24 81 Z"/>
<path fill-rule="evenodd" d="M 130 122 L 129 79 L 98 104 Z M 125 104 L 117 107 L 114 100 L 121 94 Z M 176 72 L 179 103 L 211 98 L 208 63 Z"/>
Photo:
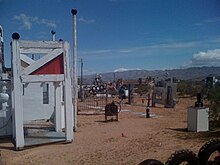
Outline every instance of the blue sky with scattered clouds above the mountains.
<path fill-rule="evenodd" d="M 84 74 L 220 66 L 219 0 L 0 0 L 6 66 L 13 32 L 72 45 L 72 8 Z"/>

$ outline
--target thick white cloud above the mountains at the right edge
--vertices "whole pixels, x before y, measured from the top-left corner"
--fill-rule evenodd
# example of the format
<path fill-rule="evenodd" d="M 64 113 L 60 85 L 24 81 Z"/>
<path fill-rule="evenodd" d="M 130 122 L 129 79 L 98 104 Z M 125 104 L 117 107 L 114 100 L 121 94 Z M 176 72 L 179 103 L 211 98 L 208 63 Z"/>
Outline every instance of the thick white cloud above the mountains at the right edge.
<path fill-rule="evenodd" d="M 220 49 L 193 54 L 192 66 L 220 66 Z"/>

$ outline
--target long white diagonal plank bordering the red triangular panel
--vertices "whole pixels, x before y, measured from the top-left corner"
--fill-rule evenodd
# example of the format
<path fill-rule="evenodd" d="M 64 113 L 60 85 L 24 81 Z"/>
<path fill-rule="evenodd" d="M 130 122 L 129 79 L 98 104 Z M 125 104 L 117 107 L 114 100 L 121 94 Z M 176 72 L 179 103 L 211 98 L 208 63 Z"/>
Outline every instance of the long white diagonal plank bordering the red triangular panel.
<path fill-rule="evenodd" d="M 41 66 L 45 65 L 46 63 L 48 63 L 49 61 L 56 58 L 57 56 L 59 56 L 62 53 L 63 53 L 62 49 L 54 49 L 49 54 L 43 56 L 42 58 L 37 60 L 35 63 L 33 63 L 30 66 L 28 66 L 27 68 L 25 68 L 23 70 L 22 74 L 31 74 L 32 72 L 34 72 L 35 70 L 37 70 Z"/>

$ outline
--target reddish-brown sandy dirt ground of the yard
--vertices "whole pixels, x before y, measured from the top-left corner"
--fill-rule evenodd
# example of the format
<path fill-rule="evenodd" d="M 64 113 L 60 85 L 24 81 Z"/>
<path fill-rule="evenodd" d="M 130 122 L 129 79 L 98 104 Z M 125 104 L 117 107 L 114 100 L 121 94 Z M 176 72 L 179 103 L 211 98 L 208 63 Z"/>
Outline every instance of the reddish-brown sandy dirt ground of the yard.
<path fill-rule="evenodd" d="M 190 149 L 196 154 L 219 132 L 187 132 L 187 107 L 194 100 L 181 98 L 174 109 L 151 108 L 145 118 L 145 107 L 123 105 L 119 121 L 104 122 L 104 114 L 78 115 L 74 141 L 14 151 L 7 140 L 0 142 L 0 164 L 131 164 L 145 159 L 165 163 L 176 150 Z"/>

